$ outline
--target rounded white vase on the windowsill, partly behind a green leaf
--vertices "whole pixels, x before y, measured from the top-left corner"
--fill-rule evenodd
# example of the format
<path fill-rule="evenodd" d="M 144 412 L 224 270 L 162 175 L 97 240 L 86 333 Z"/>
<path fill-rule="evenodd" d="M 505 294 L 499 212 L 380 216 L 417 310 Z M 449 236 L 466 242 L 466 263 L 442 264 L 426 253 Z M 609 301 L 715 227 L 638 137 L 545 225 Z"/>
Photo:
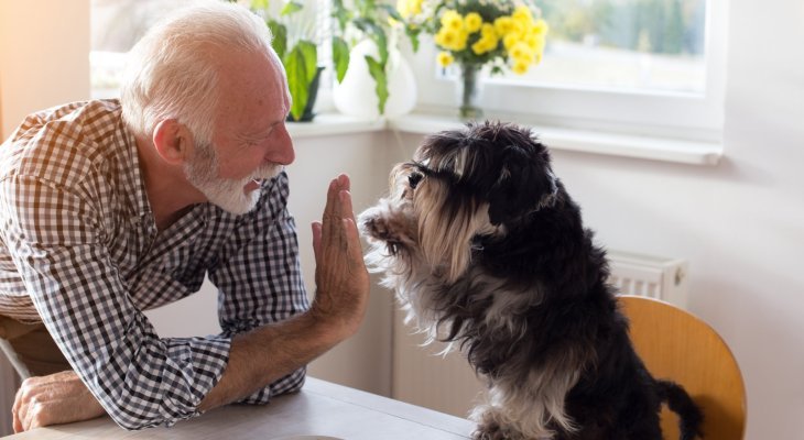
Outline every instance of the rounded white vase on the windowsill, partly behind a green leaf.
<path fill-rule="evenodd" d="M 360 118 L 378 118 L 379 99 L 374 78 L 369 74 L 366 55 L 379 59 L 377 44 L 371 40 L 358 43 L 349 52 L 349 67 L 340 84 L 335 84 L 333 102 L 344 114 Z M 388 100 L 385 117 L 393 118 L 409 113 L 416 105 L 416 81 L 408 61 L 395 47 L 388 54 Z"/>

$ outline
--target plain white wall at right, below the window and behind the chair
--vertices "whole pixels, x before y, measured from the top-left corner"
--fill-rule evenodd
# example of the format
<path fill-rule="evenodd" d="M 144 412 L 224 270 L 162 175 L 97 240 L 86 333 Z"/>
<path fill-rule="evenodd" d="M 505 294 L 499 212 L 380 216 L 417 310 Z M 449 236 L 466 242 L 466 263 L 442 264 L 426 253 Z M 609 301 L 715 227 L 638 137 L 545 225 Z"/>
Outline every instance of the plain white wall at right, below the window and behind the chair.
<path fill-rule="evenodd" d="M 729 9 L 720 165 L 555 152 L 555 169 L 599 243 L 689 260 L 689 308 L 722 334 L 747 382 L 746 438 L 800 439 L 804 3 L 732 0 Z M 419 140 L 404 138 L 409 148 Z"/>

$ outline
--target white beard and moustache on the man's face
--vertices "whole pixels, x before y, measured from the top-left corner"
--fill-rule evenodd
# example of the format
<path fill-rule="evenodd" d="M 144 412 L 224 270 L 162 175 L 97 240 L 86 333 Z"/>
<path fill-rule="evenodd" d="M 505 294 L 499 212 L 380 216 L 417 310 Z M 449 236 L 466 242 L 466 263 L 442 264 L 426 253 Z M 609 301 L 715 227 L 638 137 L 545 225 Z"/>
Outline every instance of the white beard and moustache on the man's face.
<path fill-rule="evenodd" d="M 193 161 L 184 164 L 187 180 L 202 191 L 210 204 L 236 216 L 250 212 L 260 200 L 259 188 L 246 193 L 246 185 L 276 177 L 284 168 L 282 165 L 267 164 L 242 178 L 221 178 L 218 177 L 218 158 L 213 145 L 197 148 L 197 152 L 198 155 Z"/>

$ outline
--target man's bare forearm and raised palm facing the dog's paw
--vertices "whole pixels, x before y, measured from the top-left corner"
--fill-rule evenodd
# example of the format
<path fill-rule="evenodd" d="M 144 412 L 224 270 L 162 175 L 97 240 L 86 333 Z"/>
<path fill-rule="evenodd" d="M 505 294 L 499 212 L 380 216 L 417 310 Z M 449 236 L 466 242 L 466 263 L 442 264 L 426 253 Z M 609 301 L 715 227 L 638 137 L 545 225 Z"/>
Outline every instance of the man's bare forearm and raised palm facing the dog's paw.
<path fill-rule="evenodd" d="M 357 331 L 368 304 L 369 277 L 345 175 L 329 185 L 322 222 L 313 224 L 313 250 L 316 296 L 309 310 L 236 336 L 224 375 L 198 409 L 243 398 Z"/>

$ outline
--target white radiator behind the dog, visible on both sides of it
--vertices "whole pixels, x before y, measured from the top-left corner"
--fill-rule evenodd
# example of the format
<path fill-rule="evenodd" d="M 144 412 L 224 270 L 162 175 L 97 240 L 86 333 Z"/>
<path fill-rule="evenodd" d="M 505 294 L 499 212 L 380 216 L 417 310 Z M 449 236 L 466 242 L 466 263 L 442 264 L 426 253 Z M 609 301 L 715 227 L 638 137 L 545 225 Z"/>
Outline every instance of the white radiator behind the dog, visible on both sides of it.
<path fill-rule="evenodd" d="M 609 251 L 611 278 L 619 292 L 686 305 L 687 263 L 681 258 L 662 258 L 626 252 Z M 422 346 L 424 337 L 412 334 L 413 329 L 402 321 L 404 314 L 396 311 L 393 328 L 393 371 L 391 396 L 435 409 L 466 417 L 484 389 L 469 364 L 460 353 L 437 353 L 443 344 Z"/>

